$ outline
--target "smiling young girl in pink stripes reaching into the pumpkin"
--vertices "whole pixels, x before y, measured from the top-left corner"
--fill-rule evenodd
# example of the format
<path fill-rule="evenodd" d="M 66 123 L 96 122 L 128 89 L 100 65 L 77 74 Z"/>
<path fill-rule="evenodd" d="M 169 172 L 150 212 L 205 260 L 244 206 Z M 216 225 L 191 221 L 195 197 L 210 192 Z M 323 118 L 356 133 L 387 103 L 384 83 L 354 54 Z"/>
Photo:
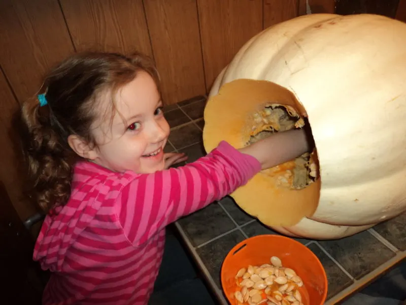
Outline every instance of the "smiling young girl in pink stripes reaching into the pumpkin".
<path fill-rule="evenodd" d="M 158 78 L 141 54 L 76 54 L 23 106 L 32 194 L 48 212 L 33 254 L 52 272 L 44 304 L 146 304 L 167 224 L 310 149 L 295 130 L 167 169 L 184 156 L 163 153 Z"/>

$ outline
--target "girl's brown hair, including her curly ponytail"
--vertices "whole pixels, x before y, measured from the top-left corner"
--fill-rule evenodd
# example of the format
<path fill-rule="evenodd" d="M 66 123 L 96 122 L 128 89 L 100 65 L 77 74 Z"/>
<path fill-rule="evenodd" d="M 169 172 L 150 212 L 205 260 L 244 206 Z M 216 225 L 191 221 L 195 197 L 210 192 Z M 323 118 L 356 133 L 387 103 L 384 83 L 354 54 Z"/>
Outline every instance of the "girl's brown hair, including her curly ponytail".
<path fill-rule="evenodd" d="M 22 107 L 23 154 L 28 164 L 29 195 L 48 212 L 64 205 L 70 197 L 74 164 L 81 159 L 67 138 L 77 135 L 96 145 L 90 132 L 101 95 L 116 92 L 145 71 L 155 80 L 159 75 L 153 61 L 141 54 L 82 52 L 63 60 L 44 81 L 47 105 L 37 98 Z M 114 115 L 111 102 L 109 112 Z M 107 110 L 108 111 L 108 110 Z"/>

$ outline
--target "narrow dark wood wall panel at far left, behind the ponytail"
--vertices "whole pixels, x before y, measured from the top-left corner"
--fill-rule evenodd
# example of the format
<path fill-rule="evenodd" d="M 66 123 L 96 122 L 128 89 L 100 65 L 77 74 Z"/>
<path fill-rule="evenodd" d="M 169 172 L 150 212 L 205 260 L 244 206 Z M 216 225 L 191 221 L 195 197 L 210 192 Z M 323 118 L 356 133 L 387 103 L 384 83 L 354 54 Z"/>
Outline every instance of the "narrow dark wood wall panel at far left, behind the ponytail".
<path fill-rule="evenodd" d="M 12 117 L 20 107 L 14 98 L 3 72 L 0 70 L 0 180 L 17 210 L 21 220 L 25 220 L 35 211 L 35 207 L 22 196 L 23 175 L 21 155 L 17 145 L 17 133 Z M 0 200 L 0 210 L 5 202 Z"/>

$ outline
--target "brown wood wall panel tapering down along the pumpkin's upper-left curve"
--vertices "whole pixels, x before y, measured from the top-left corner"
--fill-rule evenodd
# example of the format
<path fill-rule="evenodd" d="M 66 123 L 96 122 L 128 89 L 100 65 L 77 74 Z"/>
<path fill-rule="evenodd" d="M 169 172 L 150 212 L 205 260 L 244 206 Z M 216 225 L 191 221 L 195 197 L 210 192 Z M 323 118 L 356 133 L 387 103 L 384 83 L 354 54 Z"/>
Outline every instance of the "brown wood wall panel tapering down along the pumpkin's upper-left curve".
<path fill-rule="evenodd" d="M 197 0 L 207 91 L 239 49 L 263 29 L 262 0 Z"/>

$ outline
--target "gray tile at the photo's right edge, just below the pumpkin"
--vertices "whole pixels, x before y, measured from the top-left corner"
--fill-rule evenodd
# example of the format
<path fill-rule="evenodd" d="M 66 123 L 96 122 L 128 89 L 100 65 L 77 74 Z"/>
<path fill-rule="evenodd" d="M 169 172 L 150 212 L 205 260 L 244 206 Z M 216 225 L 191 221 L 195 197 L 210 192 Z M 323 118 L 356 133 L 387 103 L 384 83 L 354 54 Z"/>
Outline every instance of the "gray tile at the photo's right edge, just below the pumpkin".
<path fill-rule="evenodd" d="M 392 243 L 399 250 L 406 250 L 406 213 L 395 217 L 394 219 L 380 223 L 374 227 L 374 230 L 381 234 L 386 240 Z"/>

